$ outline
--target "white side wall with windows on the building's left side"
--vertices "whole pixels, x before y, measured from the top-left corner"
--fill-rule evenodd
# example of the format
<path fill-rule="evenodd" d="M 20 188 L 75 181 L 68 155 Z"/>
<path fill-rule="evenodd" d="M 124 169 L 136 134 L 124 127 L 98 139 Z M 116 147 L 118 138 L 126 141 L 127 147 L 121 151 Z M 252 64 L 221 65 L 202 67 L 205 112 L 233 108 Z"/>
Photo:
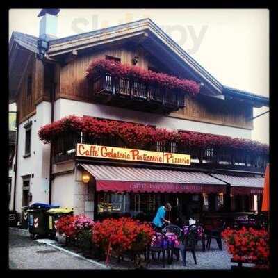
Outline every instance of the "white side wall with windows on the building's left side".
<path fill-rule="evenodd" d="M 24 158 L 25 154 L 25 129 L 24 124 L 32 121 L 31 126 L 31 156 Z M 32 202 L 48 203 L 49 199 L 49 157 L 50 146 L 44 145 L 38 138 L 38 129 L 51 122 L 51 104 L 43 101 L 36 107 L 36 113 L 18 128 L 17 149 L 17 184 L 15 196 L 15 209 L 21 212 L 22 208 L 22 176 L 34 174 L 30 179 L 30 192 L 33 195 Z M 14 186 L 14 183 L 13 183 Z M 12 186 L 12 187 L 13 187 Z M 13 190 L 12 202 L 13 203 Z"/>

